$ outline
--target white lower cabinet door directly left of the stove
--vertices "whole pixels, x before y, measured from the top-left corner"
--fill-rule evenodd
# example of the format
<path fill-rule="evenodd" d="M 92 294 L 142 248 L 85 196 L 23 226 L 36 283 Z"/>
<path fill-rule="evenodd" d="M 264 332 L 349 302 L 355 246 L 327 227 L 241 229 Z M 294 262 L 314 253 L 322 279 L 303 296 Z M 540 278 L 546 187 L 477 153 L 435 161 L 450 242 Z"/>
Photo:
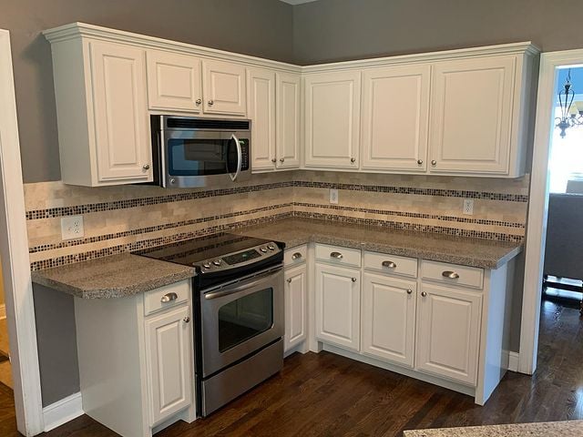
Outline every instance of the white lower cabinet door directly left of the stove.
<path fill-rule="evenodd" d="M 150 425 L 192 401 L 192 323 L 188 305 L 146 320 L 146 359 L 150 385 Z"/>

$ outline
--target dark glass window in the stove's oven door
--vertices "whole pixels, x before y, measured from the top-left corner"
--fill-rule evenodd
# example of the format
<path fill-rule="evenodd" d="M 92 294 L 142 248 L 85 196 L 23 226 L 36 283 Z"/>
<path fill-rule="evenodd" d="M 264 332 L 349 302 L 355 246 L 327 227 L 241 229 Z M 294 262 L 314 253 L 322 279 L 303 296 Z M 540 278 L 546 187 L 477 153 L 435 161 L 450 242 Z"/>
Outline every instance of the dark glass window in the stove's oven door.
<path fill-rule="evenodd" d="M 219 351 L 224 352 L 273 325 L 273 289 L 256 291 L 219 310 Z"/>

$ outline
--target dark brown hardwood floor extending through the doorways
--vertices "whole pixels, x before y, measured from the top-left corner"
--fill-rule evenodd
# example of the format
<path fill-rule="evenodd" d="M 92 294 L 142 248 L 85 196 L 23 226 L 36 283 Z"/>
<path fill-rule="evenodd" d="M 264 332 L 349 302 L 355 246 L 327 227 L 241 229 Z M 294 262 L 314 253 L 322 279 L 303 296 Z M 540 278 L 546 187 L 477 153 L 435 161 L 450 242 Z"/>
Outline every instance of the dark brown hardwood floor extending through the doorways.
<path fill-rule="evenodd" d="M 486 406 L 473 398 L 332 353 L 294 354 L 281 374 L 208 419 L 159 437 L 392 436 L 415 428 L 583 419 L 583 320 L 578 303 L 545 300 L 538 369 L 507 373 Z M 15 432 L 11 391 L 0 387 L 0 435 Z M 87 416 L 46 434 L 117 435 Z"/>

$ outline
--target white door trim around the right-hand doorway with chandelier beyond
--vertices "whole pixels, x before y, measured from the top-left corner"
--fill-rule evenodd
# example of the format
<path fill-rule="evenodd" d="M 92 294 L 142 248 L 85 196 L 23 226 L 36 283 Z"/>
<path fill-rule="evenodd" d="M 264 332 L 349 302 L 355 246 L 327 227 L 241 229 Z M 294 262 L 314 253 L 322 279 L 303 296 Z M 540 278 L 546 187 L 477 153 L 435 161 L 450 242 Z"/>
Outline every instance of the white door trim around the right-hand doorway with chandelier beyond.
<path fill-rule="evenodd" d="M 543 53 L 538 78 L 537 122 L 528 202 L 525 281 L 520 329 L 518 371 L 537 370 L 538 322 L 540 318 L 543 261 L 547 238 L 548 155 L 553 129 L 558 66 L 583 64 L 583 50 Z"/>

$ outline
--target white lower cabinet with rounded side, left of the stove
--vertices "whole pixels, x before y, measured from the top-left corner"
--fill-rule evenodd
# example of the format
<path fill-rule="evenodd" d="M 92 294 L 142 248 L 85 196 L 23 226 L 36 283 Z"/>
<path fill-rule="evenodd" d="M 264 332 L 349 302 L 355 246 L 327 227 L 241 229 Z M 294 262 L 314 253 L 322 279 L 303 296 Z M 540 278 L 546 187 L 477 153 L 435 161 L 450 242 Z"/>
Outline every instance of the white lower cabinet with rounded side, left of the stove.
<path fill-rule="evenodd" d="M 83 411 L 124 437 L 192 422 L 190 279 L 117 299 L 76 299 Z"/>

